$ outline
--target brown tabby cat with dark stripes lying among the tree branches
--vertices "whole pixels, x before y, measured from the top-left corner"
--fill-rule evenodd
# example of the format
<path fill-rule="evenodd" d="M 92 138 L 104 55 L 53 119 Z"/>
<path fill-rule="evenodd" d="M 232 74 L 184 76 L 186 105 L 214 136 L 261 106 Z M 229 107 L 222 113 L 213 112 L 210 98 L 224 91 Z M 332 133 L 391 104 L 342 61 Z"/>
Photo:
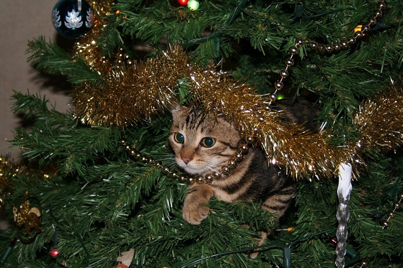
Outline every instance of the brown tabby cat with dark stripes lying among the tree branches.
<path fill-rule="evenodd" d="M 311 113 L 303 112 L 304 107 L 300 106 L 284 105 L 286 119 L 292 122 L 298 118 L 306 120 L 305 115 Z M 178 106 L 172 110 L 172 115 L 169 141 L 177 164 L 189 175 L 205 176 L 220 171 L 240 146 L 238 130 L 223 117 L 204 114 L 198 106 Z M 211 183 L 190 185 L 183 218 L 191 224 L 200 224 L 209 212 L 202 203 L 208 203 L 213 196 L 227 202 L 262 201 L 261 208 L 277 213 L 280 218 L 290 205 L 295 185 L 279 168 L 267 163 L 262 149 L 250 148 L 229 175 Z"/>

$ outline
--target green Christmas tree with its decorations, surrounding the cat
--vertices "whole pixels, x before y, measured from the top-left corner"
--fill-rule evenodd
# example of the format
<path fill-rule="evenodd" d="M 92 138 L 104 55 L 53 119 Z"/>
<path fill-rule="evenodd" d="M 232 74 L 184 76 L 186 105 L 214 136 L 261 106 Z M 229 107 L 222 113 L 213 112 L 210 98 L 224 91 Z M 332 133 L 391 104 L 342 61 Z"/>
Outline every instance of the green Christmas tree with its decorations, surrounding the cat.
<path fill-rule="evenodd" d="M 52 12 L 60 33 L 81 36 L 72 51 L 28 44 L 38 70 L 71 83 L 72 110 L 12 96 L 32 128 L 11 141 L 23 164 L 0 159 L 13 222 L 2 267 L 402 267 L 401 1 L 86 4 Z M 320 110 L 319 134 L 271 109 L 302 97 Z M 281 221 L 214 198 L 200 225 L 182 219 L 187 185 L 218 179 L 167 159 L 169 110 L 191 101 L 227 115 L 298 181 Z M 272 230 L 262 246 L 260 230 Z"/>

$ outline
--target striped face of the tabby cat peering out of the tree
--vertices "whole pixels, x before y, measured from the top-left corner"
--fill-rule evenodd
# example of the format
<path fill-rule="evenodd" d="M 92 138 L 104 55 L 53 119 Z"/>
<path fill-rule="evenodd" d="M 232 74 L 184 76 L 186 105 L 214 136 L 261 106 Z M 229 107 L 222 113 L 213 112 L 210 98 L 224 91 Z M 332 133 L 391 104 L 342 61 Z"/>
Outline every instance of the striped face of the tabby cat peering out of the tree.
<path fill-rule="evenodd" d="M 177 164 L 188 174 L 218 171 L 235 154 L 240 136 L 223 118 L 183 106 L 173 110 L 172 115 L 169 141 Z"/>

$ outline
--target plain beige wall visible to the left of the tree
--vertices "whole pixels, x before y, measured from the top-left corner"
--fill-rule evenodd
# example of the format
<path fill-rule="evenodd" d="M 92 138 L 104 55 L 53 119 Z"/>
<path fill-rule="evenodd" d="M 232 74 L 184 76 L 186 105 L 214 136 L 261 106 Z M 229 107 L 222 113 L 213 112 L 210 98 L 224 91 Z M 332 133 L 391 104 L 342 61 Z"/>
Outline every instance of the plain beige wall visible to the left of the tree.
<path fill-rule="evenodd" d="M 26 62 L 27 40 L 43 35 L 60 45 L 69 47 L 72 40 L 58 36 L 51 23 L 51 11 L 57 0 L 1 0 L 0 8 L 0 154 L 11 153 L 16 159 L 19 149 L 9 150 L 5 139 L 12 138 L 12 131 L 21 126 L 22 119 L 12 114 L 12 89 L 21 92 L 46 95 L 56 109 L 65 111 L 69 98 L 65 82 L 49 81 Z M 62 80 L 63 81 L 63 80 Z"/>

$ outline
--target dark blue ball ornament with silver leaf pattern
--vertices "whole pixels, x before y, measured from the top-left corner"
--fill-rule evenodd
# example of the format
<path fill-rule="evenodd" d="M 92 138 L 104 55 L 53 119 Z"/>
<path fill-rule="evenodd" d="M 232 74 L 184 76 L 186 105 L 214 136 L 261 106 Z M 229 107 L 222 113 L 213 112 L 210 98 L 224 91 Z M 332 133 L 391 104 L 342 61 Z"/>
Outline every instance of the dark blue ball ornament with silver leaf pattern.
<path fill-rule="evenodd" d="M 64 37 L 81 37 L 94 25 L 94 13 L 85 0 L 60 0 L 53 7 L 52 24 Z"/>

